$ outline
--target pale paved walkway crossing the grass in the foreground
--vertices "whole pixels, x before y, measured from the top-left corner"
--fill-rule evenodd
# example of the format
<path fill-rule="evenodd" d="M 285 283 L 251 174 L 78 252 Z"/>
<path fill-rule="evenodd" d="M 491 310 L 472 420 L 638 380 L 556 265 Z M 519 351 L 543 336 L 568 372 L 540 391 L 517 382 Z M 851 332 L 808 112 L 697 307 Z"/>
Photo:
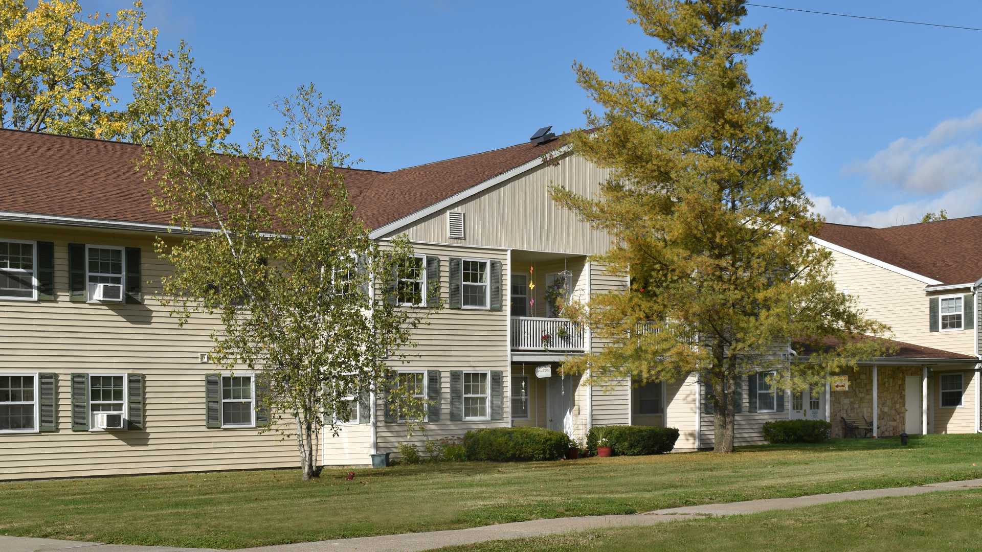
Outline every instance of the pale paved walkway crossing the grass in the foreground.
<path fill-rule="evenodd" d="M 487 525 L 468 529 L 446 531 L 414 532 L 390 534 L 381 536 L 364 536 L 358 538 L 343 538 L 337 540 L 321 540 L 318 542 L 300 542 L 297 544 L 280 544 L 260 548 L 246 548 L 240 552 L 403 552 L 430 550 L 443 546 L 473 544 L 487 540 L 501 540 L 573 532 L 584 529 L 619 527 L 627 525 L 664 524 L 678 520 L 692 520 L 709 516 L 735 516 L 740 514 L 756 514 L 775 510 L 791 510 L 806 506 L 843 502 L 846 500 L 866 500 L 891 496 L 913 496 L 938 491 L 953 491 L 962 489 L 982 488 L 982 479 L 967 481 L 949 481 L 931 483 L 916 487 L 894 487 L 889 489 L 872 489 L 866 491 L 849 491 L 842 493 L 816 494 L 796 498 L 768 498 L 747 500 L 727 504 L 705 504 L 702 506 L 683 506 L 682 508 L 666 508 L 644 514 L 625 516 L 587 516 L 582 518 L 557 518 L 552 520 L 535 520 L 518 522 L 516 524 Z M 118 544 L 101 544 L 98 542 L 78 542 L 74 540 L 54 540 L 49 538 L 28 538 L 17 536 L 0 536 L 0 551 L 2 552 L 218 552 L 203 548 L 173 548 L 167 546 L 130 546 Z"/>

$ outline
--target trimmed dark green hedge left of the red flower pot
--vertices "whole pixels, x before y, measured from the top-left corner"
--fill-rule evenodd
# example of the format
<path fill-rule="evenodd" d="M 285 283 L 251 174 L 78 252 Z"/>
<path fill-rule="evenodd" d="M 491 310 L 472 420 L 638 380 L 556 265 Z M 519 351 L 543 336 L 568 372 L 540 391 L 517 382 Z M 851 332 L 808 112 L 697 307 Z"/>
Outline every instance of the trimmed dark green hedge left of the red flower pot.
<path fill-rule="evenodd" d="M 489 427 L 464 434 L 467 460 L 530 462 L 562 460 L 571 447 L 562 431 L 544 427 Z"/>

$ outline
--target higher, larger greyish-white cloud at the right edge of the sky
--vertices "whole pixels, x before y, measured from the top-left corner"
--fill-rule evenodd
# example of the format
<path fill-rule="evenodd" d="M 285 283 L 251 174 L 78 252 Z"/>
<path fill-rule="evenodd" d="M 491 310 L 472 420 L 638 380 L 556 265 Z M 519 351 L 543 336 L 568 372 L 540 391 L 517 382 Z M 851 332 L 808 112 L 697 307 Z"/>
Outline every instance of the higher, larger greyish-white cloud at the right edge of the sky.
<path fill-rule="evenodd" d="M 942 121 L 919 138 L 900 138 L 846 173 L 910 193 L 940 193 L 977 183 L 982 176 L 982 109 Z"/>

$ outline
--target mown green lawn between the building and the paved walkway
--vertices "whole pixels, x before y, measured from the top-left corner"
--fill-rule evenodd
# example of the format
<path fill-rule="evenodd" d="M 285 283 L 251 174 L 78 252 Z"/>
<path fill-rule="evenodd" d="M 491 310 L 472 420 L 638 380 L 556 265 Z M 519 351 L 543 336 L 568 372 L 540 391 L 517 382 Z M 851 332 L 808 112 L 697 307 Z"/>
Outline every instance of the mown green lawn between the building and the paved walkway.
<path fill-rule="evenodd" d="M 982 436 L 658 457 L 0 483 L 0 534 L 237 548 L 982 477 Z"/>

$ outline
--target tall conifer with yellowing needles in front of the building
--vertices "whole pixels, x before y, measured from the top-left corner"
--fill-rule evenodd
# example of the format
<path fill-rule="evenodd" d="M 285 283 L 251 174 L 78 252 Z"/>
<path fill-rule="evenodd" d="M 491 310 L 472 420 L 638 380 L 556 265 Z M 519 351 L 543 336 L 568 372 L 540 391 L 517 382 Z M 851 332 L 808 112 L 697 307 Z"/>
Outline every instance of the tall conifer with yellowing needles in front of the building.
<path fill-rule="evenodd" d="M 574 64 L 602 108 L 595 133 L 573 151 L 613 177 L 598 197 L 560 187 L 554 198 L 614 247 L 597 260 L 630 275 L 626 294 L 568 307 L 612 345 L 567 362 L 595 378 L 678 381 L 698 372 L 713 405 L 717 452 L 734 446 L 741 378 L 778 370 L 785 389 L 818 385 L 886 353 L 889 328 L 866 318 L 832 280 L 830 251 L 813 244 L 822 221 L 790 172 L 797 132 L 778 128 L 780 106 L 754 92 L 747 58 L 763 28 L 741 28 L 740 0 L 630 0 L 632 23 L 661 41 L 621 50 L 619 80 Z M 835 343 L 789 369 L 782 352 Z"/>

